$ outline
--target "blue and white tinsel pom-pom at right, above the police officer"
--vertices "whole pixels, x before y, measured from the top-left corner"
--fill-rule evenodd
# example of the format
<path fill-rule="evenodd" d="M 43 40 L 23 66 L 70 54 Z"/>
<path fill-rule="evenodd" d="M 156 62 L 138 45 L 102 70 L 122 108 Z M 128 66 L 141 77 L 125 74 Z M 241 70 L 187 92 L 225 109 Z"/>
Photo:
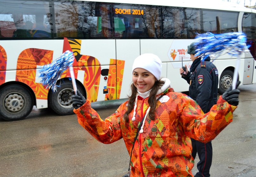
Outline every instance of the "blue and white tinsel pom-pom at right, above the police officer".
<path fill-rule="evenodd" d="M 248 46 L 246 46 L 246 35 L 243 32 L 228 32 L 223 34 L 207 32 L 197 34 L 195 39 L 195 56 L 205 55 L 202 60 L 205 60 L 209 55 L 216 58 L 224 51 L 231 56 L 239 56 L 241 52 L 249 51 Z"/>

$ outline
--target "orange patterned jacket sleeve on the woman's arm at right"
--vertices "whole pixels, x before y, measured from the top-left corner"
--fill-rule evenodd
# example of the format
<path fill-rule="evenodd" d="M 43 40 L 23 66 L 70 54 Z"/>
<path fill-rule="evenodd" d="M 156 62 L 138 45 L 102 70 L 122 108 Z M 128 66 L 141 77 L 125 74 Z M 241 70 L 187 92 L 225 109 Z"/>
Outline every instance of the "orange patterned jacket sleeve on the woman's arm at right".
<path fill-rule="evenodd" d="M 206 114 L 199 105 L 190 99 L 181 101 L 180 122 L 187 136 L 201 142 L 213 140 L 230 122 L 237 106 L 228 104 L 221 96 Z"/>

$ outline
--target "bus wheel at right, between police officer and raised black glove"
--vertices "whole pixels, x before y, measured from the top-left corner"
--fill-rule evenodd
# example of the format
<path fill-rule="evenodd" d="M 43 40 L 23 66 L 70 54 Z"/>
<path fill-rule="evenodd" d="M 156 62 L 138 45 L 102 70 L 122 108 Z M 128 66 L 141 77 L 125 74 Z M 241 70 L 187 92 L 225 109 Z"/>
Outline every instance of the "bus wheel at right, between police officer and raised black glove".
<path fill-rule="evenodd" d="M 220 75 L 220 86 L 218 92 L 223 94 L 230 86 L 232 86 L 234 72 L 231 70 L 225 70 Z"/>

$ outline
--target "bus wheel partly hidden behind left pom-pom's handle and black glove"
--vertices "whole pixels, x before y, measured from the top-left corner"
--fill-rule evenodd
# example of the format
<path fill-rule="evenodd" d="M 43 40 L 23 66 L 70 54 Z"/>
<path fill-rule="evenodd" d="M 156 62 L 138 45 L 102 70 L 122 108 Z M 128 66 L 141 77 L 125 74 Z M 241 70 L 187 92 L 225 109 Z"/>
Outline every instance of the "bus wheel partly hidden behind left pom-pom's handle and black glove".
<path fill-rule="evenodd" d="M 77 85 L 77 89 L 83 94 L 81 86 Z M 49 107 L 59 115 L 74 114 L 72 106 L 72 82 L 69 80 L 62 81 L 57 91 L 49 91 Z"/>

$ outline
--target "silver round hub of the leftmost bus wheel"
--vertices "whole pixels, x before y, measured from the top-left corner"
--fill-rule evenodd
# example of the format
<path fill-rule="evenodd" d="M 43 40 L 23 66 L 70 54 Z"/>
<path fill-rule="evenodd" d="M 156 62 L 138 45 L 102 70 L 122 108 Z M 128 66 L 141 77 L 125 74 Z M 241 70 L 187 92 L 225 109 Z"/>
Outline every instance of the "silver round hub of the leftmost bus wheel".
<path fill-rule="evenodd" d="M 24 100 L 17 93 L 11 93 L 4 99 L 4 105 L 8 111 L 17 112 L 23 108 Z"/>

